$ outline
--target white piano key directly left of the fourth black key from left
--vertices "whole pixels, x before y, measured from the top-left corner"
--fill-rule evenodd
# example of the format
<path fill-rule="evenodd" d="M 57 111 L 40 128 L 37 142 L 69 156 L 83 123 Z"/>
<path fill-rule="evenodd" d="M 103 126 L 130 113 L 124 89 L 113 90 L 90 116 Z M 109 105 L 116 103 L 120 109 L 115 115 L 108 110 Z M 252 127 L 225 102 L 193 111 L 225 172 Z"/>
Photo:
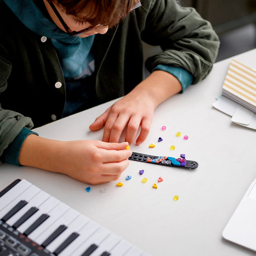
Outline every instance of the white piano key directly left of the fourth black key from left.
<path fill-rule="evenodd" d="M 51 215 L 51 212 L 49 213 L 49 215 Z M 42 244 L 45 241 L 45 239 L 47 239 L 60 225 L 65 225 L 68 227 L 70 222 L 76 219 L 78 215 L 79 215 L 79 212 L 77 212 L 72 208 L 69 208 L 67 212 L 65 212 L 60 218 L 58 218 L 46 230 L 44 230 L 44 232 L 42 232 L 39 236 L 37 236 L 34 241 L 37 244 Z"/>

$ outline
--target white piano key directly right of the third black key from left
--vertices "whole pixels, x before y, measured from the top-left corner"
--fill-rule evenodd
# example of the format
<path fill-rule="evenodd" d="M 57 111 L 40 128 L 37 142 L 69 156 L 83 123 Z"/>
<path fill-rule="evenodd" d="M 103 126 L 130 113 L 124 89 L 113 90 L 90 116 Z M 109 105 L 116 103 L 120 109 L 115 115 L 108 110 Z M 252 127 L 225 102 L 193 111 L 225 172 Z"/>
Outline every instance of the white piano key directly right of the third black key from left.
<path fill-rule="evenodd" d="M 37 227 L 31 234 L 28 235 L 28 238 L 36 242 L 36 237 L 42 234 L 47 228 L 49 228 L 58 218 L 60 218 L 65 212 L 68 211 L 70 207 L 67 204 L 60 202 L 55 206 L 48 215 L 50 216 L 47 220 L 44 221 L 39 227 Z"/>

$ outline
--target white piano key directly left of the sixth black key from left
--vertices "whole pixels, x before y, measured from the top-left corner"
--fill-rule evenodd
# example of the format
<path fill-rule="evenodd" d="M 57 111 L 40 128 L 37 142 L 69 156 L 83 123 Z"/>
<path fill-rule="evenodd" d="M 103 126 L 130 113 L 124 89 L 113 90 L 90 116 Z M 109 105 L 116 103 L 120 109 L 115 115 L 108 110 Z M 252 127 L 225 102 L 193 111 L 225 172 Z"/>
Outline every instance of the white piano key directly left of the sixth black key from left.
<path fill-rule="evenodd" d="M 90 236 L 87 240 L 85 240 L 74 252 L 70 254 L 72 255 L 82 255 L 84 251 L 91 245 L 91 244 L 96 244 L 100 245 L 100 243 L 106 239 L 110 235 L 110 231 L 106 228 L 100 227 L 98 228 L 92 236 Z"/>

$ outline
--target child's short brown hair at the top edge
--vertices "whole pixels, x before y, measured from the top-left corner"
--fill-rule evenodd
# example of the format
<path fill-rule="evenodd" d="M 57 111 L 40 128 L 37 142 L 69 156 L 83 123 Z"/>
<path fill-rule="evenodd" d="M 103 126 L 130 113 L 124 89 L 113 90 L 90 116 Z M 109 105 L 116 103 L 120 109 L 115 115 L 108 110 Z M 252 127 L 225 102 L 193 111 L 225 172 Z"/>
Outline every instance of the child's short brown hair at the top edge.
<path fill-rule="evenodd" d="M 139 0 L 54 0 L 67 14 L 83 18 L 90 24 L 113 27 L 131 11 Z"/>

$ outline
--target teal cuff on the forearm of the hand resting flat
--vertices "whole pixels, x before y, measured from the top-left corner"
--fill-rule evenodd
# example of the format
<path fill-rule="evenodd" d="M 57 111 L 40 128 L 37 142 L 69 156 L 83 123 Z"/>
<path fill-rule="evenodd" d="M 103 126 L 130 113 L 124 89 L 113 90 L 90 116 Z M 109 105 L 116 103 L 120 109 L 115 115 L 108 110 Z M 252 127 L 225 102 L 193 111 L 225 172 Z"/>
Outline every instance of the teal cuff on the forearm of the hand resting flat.
<path fill-rule="evenodd" d="M 175 76 L 180 81 L 180 84 L 182 86 L 181 92 L 184 92 L 184 90 L 190 84 L 192 84 L 194 80 L 194 76 L 190 72 L 188 72 L 185 68 L 158 64 L 156 68 L 153 69 L 153 71 L 155 70 L 162 70 Z"/>

